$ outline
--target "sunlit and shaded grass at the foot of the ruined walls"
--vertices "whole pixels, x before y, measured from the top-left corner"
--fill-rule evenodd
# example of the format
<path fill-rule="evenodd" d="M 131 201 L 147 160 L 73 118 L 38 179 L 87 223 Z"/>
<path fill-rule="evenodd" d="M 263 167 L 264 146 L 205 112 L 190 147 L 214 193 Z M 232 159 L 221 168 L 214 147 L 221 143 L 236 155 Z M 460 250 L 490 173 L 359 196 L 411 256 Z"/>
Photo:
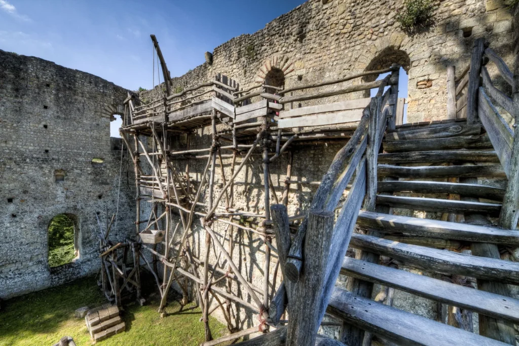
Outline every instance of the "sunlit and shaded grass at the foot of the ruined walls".
<path fill-rule="evenodd" d="M 133 302 L 125 305 L 121 317 L 126 331 L 98 344 L 195 346 L 203 342 L 203 324 L 198 321 L 200 309 L 184 307 L 184 311 L 179 312 L 180 304 L 170 299 L 167 308 L 170 315 L 160 318 L 159 297 L 155 295 L 144 307 Z M 6 308 L 0 312 L 0 345 L 52 345 L 65 335 L 73 337 L 78 346 L 91 345 L 85 319 L 75 318 L 74 311 L 105 302 L 93 277 L 7 300 Z M 225 326 L 212 317 L 210 326 L 214 338 L 226 332 Z"/>

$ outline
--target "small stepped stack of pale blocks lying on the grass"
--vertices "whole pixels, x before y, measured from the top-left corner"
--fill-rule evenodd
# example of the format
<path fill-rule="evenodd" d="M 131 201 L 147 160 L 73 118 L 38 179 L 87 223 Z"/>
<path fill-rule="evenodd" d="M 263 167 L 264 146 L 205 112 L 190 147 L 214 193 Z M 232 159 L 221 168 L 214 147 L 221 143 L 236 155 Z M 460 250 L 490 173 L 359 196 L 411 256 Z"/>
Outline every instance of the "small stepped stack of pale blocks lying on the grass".
<path fill-rule="evenodd" d="M 119 316 L 119 308 L 109 303 L 89 310 L 85 322 L 94 341 L 104 340 L 126 329 Z"/>

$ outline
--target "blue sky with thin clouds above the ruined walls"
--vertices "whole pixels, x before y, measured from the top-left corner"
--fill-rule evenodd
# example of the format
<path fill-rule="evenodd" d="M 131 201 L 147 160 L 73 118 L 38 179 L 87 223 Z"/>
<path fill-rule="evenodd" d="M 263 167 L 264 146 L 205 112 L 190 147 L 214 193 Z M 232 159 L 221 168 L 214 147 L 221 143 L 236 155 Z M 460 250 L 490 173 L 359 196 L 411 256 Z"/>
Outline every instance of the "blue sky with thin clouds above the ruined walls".
<path fill-rule="evenodd" d="M 157 36 L 171 76 L 180 76 L 203 63 L 204 52 L 262 29 L 304 2 L 0 0 L 0 49 L 89 72 L 131 90 L 149 89 L 149 34 Z"/>

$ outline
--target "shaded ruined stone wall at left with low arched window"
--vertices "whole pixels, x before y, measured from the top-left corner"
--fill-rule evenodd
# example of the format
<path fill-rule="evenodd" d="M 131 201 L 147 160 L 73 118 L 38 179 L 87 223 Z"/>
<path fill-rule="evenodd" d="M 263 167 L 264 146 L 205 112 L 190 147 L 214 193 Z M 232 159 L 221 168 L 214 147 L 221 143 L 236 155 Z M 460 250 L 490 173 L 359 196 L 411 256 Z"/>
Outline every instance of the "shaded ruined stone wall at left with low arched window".
<path fill-rule="evenodd" d="M 133 166 L 124 152 L 118 193 L 121 140 L 110 137 L 112 114 L 126 97 L 100 77 L 0 50 L 0 298 L 97 271 L 95 214 L 104 224 L 105 208 L 111 217 L 118 198 L 110 238 L 134 232 Z M 75 216 L 79 257 L 49 268 L 47 228 L 62 213 Z"/>

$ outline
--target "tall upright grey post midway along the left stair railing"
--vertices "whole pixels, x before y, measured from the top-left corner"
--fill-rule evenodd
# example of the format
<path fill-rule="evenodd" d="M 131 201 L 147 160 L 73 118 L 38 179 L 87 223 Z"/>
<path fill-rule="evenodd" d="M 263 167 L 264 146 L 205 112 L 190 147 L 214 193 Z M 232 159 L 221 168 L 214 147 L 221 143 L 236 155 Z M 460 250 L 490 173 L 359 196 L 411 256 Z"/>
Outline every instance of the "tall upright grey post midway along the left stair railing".
<path fill-rule="evenodd" d="M 381 99 L 374 97 L 370 104 L 370 125 L 367 129 L 367 149 L 366 149 L 366 197 L 364 199 L 364 209 L 373 211 L 377 196 L 377 158 L 378 149 L 378 127 L 379 111 Z"/>

